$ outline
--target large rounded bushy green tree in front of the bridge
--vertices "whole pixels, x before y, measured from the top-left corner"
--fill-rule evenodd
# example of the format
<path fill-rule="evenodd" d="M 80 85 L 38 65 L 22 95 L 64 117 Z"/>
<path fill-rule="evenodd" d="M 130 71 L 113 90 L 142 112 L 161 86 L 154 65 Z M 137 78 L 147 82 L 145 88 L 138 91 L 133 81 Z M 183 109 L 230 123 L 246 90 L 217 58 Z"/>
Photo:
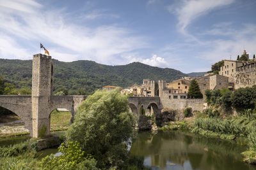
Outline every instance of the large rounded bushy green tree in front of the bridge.
<path fill-rule="evenodd" d="M 132 125 L 127 97 L 118 89 L 97 90 L 79 106 L 66 142 L 78 141 L 85 154 L 98 161 L 97 167 L 120 167 L 128 156 Z"/>

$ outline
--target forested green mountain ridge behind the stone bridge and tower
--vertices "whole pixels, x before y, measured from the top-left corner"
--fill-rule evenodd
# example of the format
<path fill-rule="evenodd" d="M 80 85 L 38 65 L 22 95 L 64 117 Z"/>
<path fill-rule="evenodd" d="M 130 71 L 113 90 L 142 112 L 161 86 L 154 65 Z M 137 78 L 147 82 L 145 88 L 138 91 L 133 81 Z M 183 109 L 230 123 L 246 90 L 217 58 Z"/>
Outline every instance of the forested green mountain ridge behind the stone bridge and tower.
<path fill-rule="evenodd" d="M 31 87 L 32 60 L 0 59 L 0 74 L 16 88 Z M 172 81 L 187 76 L 170 68 L 152 67 L 140 62 L 107 66 L 90 60 L 54 60 L 54 90 L 65 87 L 68 94 L 91 94 L 105 85 L 129 87 L 143 78 Z"/>

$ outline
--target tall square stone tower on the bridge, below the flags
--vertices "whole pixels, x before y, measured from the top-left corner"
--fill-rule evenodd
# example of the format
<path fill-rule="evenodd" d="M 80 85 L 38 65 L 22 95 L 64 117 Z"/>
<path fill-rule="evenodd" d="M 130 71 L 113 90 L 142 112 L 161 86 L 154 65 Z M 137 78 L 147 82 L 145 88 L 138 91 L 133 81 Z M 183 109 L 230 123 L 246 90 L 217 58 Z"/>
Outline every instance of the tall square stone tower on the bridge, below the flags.
<path fill-rule="evenodd" d="M 32 132 L 38 138 L 50 134 L 53 66 L 51 56 L 33 55 L 32 69 Z"/>

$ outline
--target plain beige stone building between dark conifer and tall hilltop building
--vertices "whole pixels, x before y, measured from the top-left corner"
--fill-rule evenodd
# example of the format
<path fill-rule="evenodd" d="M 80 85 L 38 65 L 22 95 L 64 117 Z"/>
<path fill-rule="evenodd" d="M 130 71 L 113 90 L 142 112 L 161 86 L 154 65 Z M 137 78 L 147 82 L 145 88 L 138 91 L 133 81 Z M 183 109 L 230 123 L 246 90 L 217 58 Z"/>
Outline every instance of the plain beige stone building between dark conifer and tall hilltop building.
<path fill-rule="evenodd" d="M 223 87 L 228 88 L 228 77 L 220 74 L 209 74 L 196 78 L 200 91 L 204 95 L 205 90 L 221 89 Z"/>

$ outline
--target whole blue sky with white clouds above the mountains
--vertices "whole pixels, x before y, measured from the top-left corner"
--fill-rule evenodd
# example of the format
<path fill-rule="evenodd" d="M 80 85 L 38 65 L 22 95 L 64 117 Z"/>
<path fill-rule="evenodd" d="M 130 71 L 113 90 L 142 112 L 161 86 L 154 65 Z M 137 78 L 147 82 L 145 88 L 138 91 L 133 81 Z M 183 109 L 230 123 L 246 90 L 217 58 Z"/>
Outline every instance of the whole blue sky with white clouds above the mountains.
<path fill-rule="evenodd" d="M 209 71 L 256 54 L 255 0 L 0 0 L 0 58 L 143 62 Z"/>

